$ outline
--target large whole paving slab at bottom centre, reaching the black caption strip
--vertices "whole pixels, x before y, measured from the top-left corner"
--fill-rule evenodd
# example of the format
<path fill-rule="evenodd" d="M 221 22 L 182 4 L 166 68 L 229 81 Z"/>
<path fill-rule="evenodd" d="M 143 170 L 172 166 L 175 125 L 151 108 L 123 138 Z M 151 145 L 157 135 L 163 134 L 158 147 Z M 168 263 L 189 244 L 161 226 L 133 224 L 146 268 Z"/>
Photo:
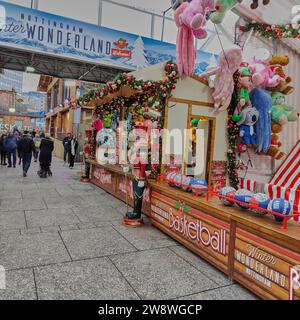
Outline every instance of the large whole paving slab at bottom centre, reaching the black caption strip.
<path fill-rule="evenodd" d="M 110 259 L 141 299 L 175 299 L 218 287 L 167 248 Z"/>

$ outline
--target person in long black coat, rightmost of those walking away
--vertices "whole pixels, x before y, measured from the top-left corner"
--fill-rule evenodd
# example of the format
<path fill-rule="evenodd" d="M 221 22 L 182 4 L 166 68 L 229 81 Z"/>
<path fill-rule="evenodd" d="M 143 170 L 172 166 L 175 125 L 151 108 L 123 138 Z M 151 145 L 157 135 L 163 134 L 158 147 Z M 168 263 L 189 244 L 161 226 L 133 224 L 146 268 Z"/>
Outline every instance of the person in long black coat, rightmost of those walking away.
<path fill-rule="evenodd" d="M 49 134 L 41 140 L 40 145 L 40 171 L 39 176 L 41 178 L 47 178 L 47 175 L 52 176 L 51 172 L 51 162 L 52 162 L 52 152 L 54 150 L 54 142 Z"/>

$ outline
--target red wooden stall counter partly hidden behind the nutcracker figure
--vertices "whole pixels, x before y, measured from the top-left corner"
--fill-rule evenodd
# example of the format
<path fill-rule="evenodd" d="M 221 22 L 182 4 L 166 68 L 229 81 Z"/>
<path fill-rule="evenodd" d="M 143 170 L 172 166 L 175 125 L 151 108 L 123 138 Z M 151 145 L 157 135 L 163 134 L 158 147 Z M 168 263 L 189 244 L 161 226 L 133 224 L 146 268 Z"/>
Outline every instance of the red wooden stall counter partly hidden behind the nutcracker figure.
<path fill-rule="evenodd" d="M 129 173 L 126 183 L 125 173 L 120 166 L 103 166 L 93 160 L 89 160 L 89 163 L 91 164 L 90 182 L 124 202 L 126 202 L 127 193 L 128 203 L 133 207 L 133 176 Z M 142 211 L 149 216 L 150 209 L 150 189 L 147 187 L 144 192 Z"/>

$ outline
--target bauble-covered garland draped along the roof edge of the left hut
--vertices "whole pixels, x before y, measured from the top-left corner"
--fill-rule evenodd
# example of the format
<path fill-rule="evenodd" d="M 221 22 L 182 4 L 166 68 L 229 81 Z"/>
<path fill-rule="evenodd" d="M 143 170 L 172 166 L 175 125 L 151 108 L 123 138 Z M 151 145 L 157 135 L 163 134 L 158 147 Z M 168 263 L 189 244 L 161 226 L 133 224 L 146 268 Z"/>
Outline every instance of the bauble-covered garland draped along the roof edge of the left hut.
<path fill-rule="evenodd" d="M 161 81 L 144 81 L 136 79 L 133 75 L 127 73 L 119 74 L 115 80 L 107 82 L 96 89 L 90 90 L 80 98 L 81 103 L 101 100 L 109 94 L 118 92 L 122 86 L 128 86 L 137 90 L 141 94 L 150 97 L 165 99 L 171 95 L 172 90 L 176 89 L 178 80 L 178 68 L 175 63 L 169 61 L 165 65 L 166 79 Z"/>

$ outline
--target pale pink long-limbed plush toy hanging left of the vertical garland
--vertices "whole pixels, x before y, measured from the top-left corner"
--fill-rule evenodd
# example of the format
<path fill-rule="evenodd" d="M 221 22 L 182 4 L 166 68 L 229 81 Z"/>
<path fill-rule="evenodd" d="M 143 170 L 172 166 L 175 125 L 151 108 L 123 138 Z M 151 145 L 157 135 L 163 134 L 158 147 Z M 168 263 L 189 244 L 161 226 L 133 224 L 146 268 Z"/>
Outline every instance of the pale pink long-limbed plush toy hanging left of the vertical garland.
<path fill-rule="evenodd" d="M 240 48 L 225 50 L 225 54 L 222 51 L 219 56 L 219 66 L 200 75 L 203 78 L 217 75 L 213 98 L 215 108 L 219 111 L 227 110 L 230 105 L 234 90 L 233 75 L 239 69 L 242 58 L 243 52 Z"/>

